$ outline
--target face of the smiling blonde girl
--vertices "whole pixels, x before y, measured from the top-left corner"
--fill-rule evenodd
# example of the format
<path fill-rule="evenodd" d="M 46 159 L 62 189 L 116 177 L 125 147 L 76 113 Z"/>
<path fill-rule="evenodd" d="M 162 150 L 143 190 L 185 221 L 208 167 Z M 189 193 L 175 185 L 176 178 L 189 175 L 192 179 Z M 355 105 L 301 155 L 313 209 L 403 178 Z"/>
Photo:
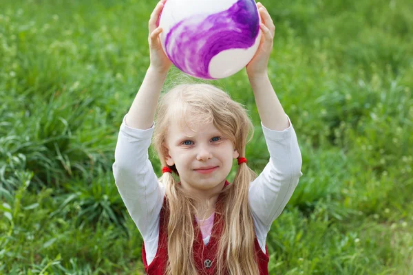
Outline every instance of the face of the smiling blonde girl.
<path fill-rule="evenodd" d="M 171 123 L 166 140 L 167 164 L 176 166 L 184 189 L 202 196 L 218 192 L 239 154 L 212 122 L 193 124 L 191 128 Z"/>

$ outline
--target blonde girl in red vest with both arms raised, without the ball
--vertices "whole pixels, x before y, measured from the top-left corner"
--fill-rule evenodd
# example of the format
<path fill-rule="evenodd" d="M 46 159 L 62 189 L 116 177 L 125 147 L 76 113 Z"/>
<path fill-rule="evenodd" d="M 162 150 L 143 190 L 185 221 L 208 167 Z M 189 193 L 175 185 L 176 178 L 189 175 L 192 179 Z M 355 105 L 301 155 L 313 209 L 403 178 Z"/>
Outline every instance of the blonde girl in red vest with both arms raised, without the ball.
<path fill-rule="evenodd" d="M 267 74 L 275 26 L 257 3 L 264 35 L 246 72 L 270 159 L 256 177 L 246 163 L 253 128 L 241 104 L 206 84 L 178 85 L 159 100 L 171 67 L 156 26 L 165 1 L 149 20 L 151 64 L 120 126 L 113 165 L 120 195 L 143 237 L 145 271 L 268 274 L 266 235 L 302 175 L 295 131 Z M 148 157 L 152 134 L 163 167 L 159 179 Z M 233 159 L 238 168 L 229 183 Z"/>

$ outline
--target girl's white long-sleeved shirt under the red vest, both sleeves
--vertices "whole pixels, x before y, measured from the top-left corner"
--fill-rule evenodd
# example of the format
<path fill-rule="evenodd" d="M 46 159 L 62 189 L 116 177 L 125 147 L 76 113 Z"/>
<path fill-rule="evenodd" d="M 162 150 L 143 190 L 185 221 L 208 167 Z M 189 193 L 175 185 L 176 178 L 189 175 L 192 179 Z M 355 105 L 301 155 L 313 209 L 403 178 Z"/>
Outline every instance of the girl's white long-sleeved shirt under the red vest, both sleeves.
<path fill-rule="evenodd" d="M 127 126 L 125 118 L 120 125 L 113 173 L 120 196 L 145 241 L 149 265 L 158 249 L 165 187 L 158 181 L 148 156 L 154 124 L 147 130 L 134 129 Z M 288 122 L 290 126 L 284 131 L 268 129 L 261 123 L 270 159 L 248 190 L 257 240 L 264 253 L 271 224 L 284 210 L 303 175 L 297 136 L 289 118 Z M 208 241 L 209 236 L 204 239 Z"/>

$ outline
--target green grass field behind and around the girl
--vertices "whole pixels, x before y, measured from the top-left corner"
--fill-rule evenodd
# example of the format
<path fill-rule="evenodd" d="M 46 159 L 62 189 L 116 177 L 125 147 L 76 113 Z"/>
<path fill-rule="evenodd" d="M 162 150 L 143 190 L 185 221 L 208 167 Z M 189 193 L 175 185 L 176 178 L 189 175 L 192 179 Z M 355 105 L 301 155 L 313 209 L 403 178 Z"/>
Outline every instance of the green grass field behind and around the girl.
<path fill-rule="evenodd" d="M 270 273 L 413 274 L 411 1 L 262 3 L 304 174 L 268 234 Z M 0 1 L 0 274 L 143 274 L 112 164 L 155 5 Z M 248 107 L 260 173 L 268 152 L 245 72 L 213 84 Z"/>

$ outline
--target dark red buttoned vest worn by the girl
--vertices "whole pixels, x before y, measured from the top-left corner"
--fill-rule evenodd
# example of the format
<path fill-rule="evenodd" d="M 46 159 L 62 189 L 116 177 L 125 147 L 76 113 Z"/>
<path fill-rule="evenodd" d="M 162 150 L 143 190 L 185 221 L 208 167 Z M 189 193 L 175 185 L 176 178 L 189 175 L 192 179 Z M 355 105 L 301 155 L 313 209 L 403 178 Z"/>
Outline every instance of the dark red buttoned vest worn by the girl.
<path fill-rule="evenodd" d="M 225 186 L 229 184 L 226 182 Z M 218 201 L 220 199 L 218 198 Z M 218 202 L 217 201 L 217 202 Z M 159 242 L 158 249 L 156 250 L 155 259 L 151 262 L 150 265 L 147 264 L 146 252 L 145 252 L 145 243 L 142 245 L 142 261 L 145 265 L 145 272 L 149 275 L 164 275 L 167 267 L 168 261 L 168 236 L 167 236 L 167 227 L 168 227 L 168 217 L 169 209 L 166 206 L 166 197 L 164 203 L 160 210 L 160 220 L 159 220 Z M 219 222 L 221 220 L 221 222 Z M 195 219 L 193 219 L 194 228 L 198 227 Z M 213 261 L 214 256 L 218 251 L 218 241 L 220 233 L 222 232 L 223 222 L 220 219 L 220 216 L 215 212 L 215 218 L 213 222 L 213 228 L 211 232 L 211 237 L 209 243 L 204 245 L 202 240 L 202 234 L 200 230 L 198 231 L 198 237 L 193 243 L 193 254 L 195 259 L 195 265 L 198 269 L 198 274 L 215 274 L 215 261 Z M 255 255 L 257 256 L 258 269 L 260 270 L 260 275 L 268 275 L 268 250 L 266 248 L 266 253 L 262 252 L 260 244 L 257 241 L 255 236 Z"/>

